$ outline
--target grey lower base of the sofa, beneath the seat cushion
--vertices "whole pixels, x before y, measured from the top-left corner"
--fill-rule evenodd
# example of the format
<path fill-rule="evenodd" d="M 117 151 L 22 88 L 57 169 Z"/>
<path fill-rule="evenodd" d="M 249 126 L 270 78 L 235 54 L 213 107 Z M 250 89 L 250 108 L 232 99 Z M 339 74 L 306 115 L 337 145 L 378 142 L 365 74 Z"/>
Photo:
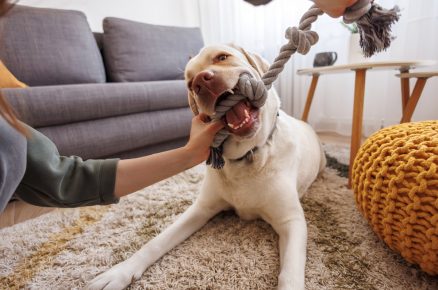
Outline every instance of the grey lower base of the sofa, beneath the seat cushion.
<path fill-rule="evenodd" d="M 61 155 L 104 158 L 187 137 L 192 116 L 185 107 L 37 129 L 57 145 Z"/>

